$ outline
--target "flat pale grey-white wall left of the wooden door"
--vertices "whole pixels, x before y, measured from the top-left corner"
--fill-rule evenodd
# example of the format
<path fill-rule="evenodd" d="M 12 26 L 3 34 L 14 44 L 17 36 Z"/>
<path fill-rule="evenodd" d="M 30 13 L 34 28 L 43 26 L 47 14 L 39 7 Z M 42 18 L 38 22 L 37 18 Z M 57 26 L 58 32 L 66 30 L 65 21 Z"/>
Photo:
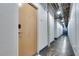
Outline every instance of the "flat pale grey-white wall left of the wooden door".
<path fill-rule="evenodd" d="M 17 55 L 17 4 L 0 4 L 0 56 Z"/>

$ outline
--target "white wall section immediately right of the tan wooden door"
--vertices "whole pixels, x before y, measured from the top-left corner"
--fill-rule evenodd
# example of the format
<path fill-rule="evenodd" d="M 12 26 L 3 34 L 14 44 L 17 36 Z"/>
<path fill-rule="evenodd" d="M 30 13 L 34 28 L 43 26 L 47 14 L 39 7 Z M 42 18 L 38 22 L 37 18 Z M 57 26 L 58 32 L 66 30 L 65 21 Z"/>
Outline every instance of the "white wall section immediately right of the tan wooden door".
<path fill-rule="evenodd" d="M 40 4 L 35 3 L 38 8 L 37 19 L 37 39 L 38 39 L 38 52 L 47 46 L 47 12 Z"/>

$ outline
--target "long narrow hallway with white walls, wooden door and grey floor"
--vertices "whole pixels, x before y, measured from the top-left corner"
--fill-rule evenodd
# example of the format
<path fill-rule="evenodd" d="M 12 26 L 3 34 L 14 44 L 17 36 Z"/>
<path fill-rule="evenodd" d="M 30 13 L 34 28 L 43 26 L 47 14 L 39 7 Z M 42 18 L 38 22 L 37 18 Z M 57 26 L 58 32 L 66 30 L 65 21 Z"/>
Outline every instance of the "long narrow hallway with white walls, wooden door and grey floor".
<path fill-rule="evenodd" d="M 3 3 L 0 15 L 0 56 L 79 56 L 79 4 Z"/>

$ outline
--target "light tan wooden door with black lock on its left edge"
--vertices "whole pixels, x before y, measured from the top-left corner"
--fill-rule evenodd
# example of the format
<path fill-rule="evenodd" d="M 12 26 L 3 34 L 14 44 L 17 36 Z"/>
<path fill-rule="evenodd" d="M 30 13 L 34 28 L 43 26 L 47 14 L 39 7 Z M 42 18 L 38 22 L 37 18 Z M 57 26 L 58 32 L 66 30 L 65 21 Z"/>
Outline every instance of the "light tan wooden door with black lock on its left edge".
<path fill-rule="evenodd" d="M 19 55 L 32 56 L 37 52 L 37 9 L 31 4 L 22 4 L 19 19 Z"/>

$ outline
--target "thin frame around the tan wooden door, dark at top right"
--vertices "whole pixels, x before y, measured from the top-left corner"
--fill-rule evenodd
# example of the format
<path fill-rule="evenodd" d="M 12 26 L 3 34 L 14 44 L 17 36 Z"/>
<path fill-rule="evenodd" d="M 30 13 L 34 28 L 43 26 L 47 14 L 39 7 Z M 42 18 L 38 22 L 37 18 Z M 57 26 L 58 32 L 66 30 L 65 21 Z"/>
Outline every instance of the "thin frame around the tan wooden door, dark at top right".
<path fill-rule="evenodd" d="M 37 10 L 37 16 L 36 16 L 36 53 L 33 55 L 35 56 L 36 54 L 38 54 L 38 38 L 37 38 L 37 20 L 38 20 L 38 7 L 36 5 L 34 5 L 33 3 L 28 3 L 29 5 L 31 5 L 32 7 L 34 7 Z M 19 7 L 19 6 L 18 6 Z M 19 15 L 19 14 L 18 14 Z M 19 25 L 19 23 L 18 23 Z M 17 48 L 17 55 L 19 56 L 19 28 L 18 28 L 18 48 Z"/>

